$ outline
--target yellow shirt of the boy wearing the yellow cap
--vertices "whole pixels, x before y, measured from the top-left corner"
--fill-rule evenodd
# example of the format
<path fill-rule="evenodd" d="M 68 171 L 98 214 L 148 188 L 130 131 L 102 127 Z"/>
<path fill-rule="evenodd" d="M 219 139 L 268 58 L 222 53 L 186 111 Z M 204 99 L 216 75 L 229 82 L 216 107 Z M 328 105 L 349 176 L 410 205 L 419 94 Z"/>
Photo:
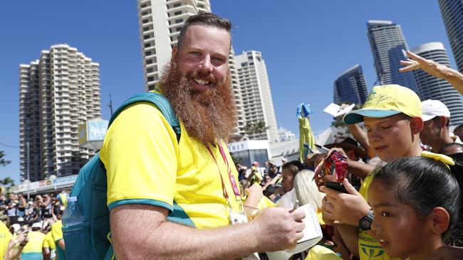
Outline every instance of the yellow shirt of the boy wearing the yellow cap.
<path fill-rule="evenodd" d="M 362 186 L 358 191 L 360 195 L 362 195 L 365 200 L 368 201 L 368 188 L 373 180 L 373 174 L 370 173 L 368 176 L 363 180 Z M 380 243 L 374 239 L 373 237 L 368 234 L 368 232 L 359 229 L 358 231 L 358 254 L 360 254 L 360 260 L 390 260 L 390 259 L 397 259 L 391 256 L 387 256 L 386 252 L 382 247 L 380 247 Z"/>

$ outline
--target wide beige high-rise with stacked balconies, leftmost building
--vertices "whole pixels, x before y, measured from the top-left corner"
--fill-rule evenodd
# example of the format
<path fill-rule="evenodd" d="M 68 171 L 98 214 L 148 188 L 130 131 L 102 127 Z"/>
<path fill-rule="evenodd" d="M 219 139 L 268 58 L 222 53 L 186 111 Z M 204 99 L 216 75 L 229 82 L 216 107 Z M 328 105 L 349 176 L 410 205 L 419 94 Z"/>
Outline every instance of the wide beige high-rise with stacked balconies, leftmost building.
<path fill-rule="evenodd" d="M 19 66 L 21 177 L 78 173 L 94 154 L 78 146 L 78 124 L 101 118 L 100 69 L 66 44 Z"/>

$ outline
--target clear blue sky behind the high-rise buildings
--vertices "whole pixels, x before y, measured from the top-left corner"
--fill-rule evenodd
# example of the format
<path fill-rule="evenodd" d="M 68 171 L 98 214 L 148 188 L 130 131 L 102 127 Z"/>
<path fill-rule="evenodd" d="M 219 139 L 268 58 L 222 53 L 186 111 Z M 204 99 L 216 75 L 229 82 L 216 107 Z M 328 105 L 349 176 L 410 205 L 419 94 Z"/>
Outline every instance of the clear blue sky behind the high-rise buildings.
<path fill-rule="evenodd" d="M 284 2 L 284 4 L 282 4 Z M 311 104 L 315 131 L 332 121 L 323 108 L 333 81 L 360 64 L 368 90 L 376 80 L 366 36 L 368 20 L 402 26 L 410 48 L 440 41 L 454 58 L 437 0 L 246 1 L 211 0 L 212 11 L 234 23 L 235 53 L 259 50 L 267 65 L 279 126 L 297 134 L 296 107 Z M 100 63 L 103 118 L 109 94 L 115 107 L 143 91 L 135 0 L 0 1 L 0 151 L 12 163 L 0 178 L 19 180 L 19 65 L 58 43 L 78 48 Z"/>

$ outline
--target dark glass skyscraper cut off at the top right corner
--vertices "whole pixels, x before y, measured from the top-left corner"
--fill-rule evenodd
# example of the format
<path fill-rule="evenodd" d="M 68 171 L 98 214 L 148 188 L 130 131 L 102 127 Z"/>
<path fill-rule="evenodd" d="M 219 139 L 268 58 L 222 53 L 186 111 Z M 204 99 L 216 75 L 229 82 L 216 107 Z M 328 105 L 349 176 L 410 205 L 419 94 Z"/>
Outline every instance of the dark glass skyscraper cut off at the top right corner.
<path fill-rule="evenodd" d="M 463 1 L 439 0 L 452 52 L 460 72 L 463 72 Z"/>

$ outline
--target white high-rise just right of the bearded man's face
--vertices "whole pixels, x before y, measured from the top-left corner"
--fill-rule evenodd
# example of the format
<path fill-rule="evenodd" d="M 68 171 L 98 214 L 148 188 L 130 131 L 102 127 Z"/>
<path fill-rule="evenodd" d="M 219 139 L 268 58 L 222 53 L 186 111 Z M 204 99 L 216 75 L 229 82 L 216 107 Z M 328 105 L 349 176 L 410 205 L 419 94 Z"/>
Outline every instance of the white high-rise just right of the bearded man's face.
<path fill-rule="evenodd" d="M 276 128 L 274 102 L 271 98 L 269 75 L 262 54 L 249 50 L 235 56 L 239 85 L 243 94 L 244 117 L 246 124 L 264 121 L 268 127 L 259 134 L 251 134 L 250 139 L 267 139 L 270 143 L 279 140 Z"/>

